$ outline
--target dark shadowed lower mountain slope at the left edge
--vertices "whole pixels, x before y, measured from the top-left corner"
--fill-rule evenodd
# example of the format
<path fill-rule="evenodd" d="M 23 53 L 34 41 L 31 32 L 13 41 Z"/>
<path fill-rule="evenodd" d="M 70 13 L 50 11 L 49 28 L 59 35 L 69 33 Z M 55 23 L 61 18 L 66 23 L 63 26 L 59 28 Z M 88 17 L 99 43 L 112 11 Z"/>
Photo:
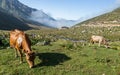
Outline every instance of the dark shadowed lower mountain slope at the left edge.
<path fill-rule="evenodd" d="M 26 25 L 24 22 L 20 21 L 16 17 L 0 11 L 0 29 L 11 30 L 16 28 L 21 30 L 31 29 L 31 27 L 29 27 L 28 25 Z"/>

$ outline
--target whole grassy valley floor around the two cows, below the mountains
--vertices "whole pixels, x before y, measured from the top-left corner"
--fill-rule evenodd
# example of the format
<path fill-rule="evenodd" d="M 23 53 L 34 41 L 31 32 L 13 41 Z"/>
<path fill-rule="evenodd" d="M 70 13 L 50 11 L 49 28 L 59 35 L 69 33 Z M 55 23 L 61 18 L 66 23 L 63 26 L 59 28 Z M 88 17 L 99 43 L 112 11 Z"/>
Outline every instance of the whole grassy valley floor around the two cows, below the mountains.
<path fill-rule="evenodd" d="M 8 35 L 0 47 L 0 75 L 120 75 L 120 27 L 85 27 L 25 31 L 36 52 L 35 67 L 30 69 L 15 58 Z M 34 33 L 34 34 L 33 34 Z M 110 48 L 89 45 L 91 35 L 107 38 Z M 48 43 L 49 42 L 49 43 Z"/>

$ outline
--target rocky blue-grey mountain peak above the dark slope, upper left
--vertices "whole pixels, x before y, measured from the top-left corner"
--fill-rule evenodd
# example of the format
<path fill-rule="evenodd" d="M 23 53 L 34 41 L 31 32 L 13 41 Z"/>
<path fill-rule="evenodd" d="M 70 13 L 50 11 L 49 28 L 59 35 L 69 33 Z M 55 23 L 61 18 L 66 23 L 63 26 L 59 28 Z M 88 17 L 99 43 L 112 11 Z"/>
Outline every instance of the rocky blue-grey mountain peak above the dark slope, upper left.
<path fill-rule="evenodd" d="M 27 18 L 32 11 L 36 10 L 20 3 L 18 0 L 0 0 L 0 8 L 9 14 L 22 18 Z"/>

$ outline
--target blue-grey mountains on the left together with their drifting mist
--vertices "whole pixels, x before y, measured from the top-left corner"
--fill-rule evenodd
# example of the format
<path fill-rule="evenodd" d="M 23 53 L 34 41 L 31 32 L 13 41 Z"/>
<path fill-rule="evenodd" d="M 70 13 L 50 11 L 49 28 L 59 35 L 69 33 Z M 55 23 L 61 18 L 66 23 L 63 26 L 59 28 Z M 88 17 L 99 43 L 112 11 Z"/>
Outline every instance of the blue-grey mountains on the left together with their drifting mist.
<path fill-rule="evenodd" d="M 56 20 L 42 10 L 28 7 L 18 0 L 0 0 L 0 29 L 31 29 L 28 24 L 57 28 L 75 23 L 72 20 Z"/>

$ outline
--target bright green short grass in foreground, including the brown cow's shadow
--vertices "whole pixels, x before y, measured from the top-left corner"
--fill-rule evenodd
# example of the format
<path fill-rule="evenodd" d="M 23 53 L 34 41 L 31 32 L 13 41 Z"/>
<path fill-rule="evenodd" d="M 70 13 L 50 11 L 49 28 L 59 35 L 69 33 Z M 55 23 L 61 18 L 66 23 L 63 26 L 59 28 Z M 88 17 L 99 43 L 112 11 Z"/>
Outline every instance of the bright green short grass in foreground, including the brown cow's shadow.
<path fill-rule="evenodd" d="M 14 57 L 13 49 L 0 50 L 1 75 L 117 75 L 120 51 L 97 46 L 66 49 L 59 44 L 32 46 L 37 53 L 35 68 Z"/>

